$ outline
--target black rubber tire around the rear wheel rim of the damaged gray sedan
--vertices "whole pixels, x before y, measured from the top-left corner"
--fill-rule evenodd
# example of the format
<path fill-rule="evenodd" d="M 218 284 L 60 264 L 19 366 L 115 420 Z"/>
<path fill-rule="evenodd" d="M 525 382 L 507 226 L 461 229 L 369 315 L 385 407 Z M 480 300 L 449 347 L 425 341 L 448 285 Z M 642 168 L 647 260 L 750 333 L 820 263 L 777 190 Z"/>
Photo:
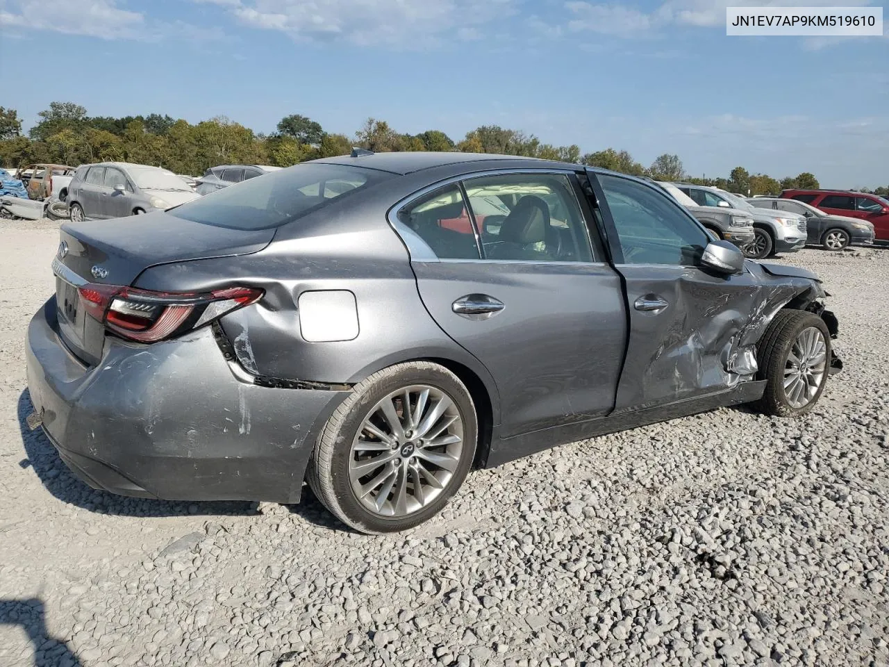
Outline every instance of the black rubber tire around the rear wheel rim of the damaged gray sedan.
<path fill-rule="evenodd" d="M 349 464 L 355 456 L 352 443 L 379 401 L 392 392 L 412 385 L 433 387 L 453 401 L 462 420 L 461 454 L 450 480 L 435 500 L 405 516 L 385 517 L 365 508 L 353 490 L 349 478 Z M 308 462 L 308 485 L 333 516 L 361 533 L 406 530 L 435 516 L 460 488 L 475 459 L 477 433 L 477 415 L 472 397 L 460 378 L 451 371 L 426 361 L 390 366 L 358 383 L 324 425 Z"/>

